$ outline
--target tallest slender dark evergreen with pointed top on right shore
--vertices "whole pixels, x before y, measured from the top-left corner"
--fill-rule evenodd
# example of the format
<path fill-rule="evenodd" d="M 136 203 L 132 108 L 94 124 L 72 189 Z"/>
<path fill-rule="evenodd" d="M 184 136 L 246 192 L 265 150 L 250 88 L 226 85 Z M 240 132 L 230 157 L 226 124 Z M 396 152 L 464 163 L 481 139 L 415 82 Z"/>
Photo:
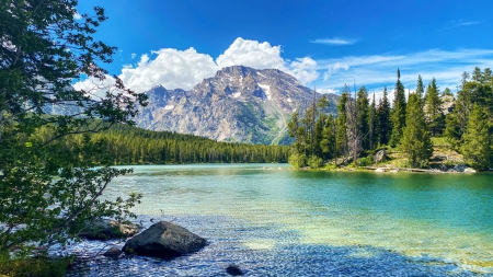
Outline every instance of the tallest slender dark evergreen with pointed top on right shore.
<path fill-rule="evenodd" d="M 398 80 L 394 89 L 394 99 L 391 113 L 392 134 L 390 145 L 397 146 L 402 138 L 402 131 L 405 127 L 405 93 L 404 85 L 401 83 L 401 72 L 398 69 Z"/>

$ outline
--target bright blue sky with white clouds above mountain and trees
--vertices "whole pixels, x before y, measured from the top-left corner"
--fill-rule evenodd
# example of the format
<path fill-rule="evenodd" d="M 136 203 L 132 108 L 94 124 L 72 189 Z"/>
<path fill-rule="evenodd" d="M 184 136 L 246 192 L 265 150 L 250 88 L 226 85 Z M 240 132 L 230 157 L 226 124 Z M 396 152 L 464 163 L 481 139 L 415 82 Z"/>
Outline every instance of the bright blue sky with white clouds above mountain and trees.
<path fill-rule="evenodd" d="M 108 16 L 94 37 L 118 47 L 103 67 L 138 92 L 190 90 L 234 65 L 322 93 L 392 91 L 398 68 L 405 89 L 421 74 L 456 92 L 463 71 L 493 67 L 491 0 L 81 0 L 78 13 L 94 5 Z"/>

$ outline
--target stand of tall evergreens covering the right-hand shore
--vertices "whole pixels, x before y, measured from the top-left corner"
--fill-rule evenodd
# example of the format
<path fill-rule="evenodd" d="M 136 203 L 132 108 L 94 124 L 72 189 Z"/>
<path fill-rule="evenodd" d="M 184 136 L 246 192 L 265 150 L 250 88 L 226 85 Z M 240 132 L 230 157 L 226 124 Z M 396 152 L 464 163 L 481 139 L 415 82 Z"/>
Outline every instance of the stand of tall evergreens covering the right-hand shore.
<path fill-rule="evenodd" d="M 433 154 L 433 138 L 444 138 L 475 170 L 493 168 L 493 76 L 490 68 L 463 72 L 457 94 L 440 92 L 433 79 L 426 86 L 417 77 L 416 90 L 406 91 L 397 71 L 392 103 L 387 88 L 378 103 L 369 101 L 365 86 L 344 86 L 337 116 L 324 114 L 324 96 L 288 124 L 295 138 L 289 163 L 295 168 L 342 164 L 367 165 L 372 154 L 386 149 L 402 152 L 409 168 L 426 168 Z M 352 95 L 353 94 L 353 95 Z M 452 105 L 445 107 L 444 101 Z M 359 161 L 359 164 L 358 164 Z"/>

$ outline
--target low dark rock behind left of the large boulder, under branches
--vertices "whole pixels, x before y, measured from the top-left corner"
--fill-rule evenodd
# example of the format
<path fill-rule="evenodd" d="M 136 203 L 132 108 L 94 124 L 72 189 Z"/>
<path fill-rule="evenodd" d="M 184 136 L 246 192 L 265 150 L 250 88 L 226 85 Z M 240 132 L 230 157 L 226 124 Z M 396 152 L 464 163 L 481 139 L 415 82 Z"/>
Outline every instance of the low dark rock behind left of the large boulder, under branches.
<path fill-rule="evenodd" d="M 118 222 L 116 220 L 103 220 L 92 223 L 79 234 L 80 238 L 88 240 L 111 240 L 129 238 L 138 233 L 139 226 L 127 222 Z"/>

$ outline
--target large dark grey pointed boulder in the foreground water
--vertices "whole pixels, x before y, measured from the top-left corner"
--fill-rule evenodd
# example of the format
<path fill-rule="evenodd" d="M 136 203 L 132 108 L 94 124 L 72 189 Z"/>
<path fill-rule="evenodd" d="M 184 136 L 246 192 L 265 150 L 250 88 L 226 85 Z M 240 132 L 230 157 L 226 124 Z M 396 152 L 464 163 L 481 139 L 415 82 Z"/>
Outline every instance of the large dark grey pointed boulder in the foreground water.
<path fill-rule="evenodd" d="M 206 244 L 207 241 L 204 238 L 185 228 L 160 221 L 128 240 L 123 251 L 142 256 L 171 258 L 197 252 Z"/>

